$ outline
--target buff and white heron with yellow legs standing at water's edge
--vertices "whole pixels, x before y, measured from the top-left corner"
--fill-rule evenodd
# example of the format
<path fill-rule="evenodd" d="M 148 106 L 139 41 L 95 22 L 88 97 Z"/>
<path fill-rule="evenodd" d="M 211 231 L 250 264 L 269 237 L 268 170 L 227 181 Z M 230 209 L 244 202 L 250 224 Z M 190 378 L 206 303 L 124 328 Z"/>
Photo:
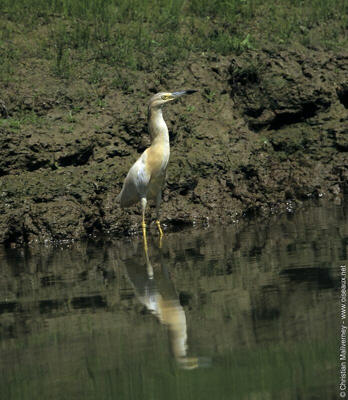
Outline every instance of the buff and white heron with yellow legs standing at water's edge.
<path fill-rule="evenodd" d="M 197 91 L 164 92 L 152 96 L 147 116 L 151 146 L 132 165 L 118 196 L 121 207 L 130 207 L 139 201 L 141 202 L 145 247 L 147 247 L 145 209 L 148 200 L 155 200 L 156 202 L 156 225 L 160 237 L 163 235 L 160 223 L 160 204 L 162 189 L 166 181 L 170 149 L 168 128 L 163 119 L 162 110 L 172 101 L 195 92 Z"/>

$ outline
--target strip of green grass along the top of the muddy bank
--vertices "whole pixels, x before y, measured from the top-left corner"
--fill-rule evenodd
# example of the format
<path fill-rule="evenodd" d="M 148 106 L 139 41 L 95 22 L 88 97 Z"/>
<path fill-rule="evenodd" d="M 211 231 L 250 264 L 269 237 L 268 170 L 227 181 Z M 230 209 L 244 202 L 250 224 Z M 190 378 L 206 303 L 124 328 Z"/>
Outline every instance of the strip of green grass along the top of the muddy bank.
<path fill-rule="evenodd" d="M 14 80 L 19 60 L 37 57 L 68 81 L 88 65 L 87 80 L 97 84 L 103 65 L 112 67 L 115 86 L 129 90 L 132 71 L 161 82 L 193 52 L 238 54 L 292 40 L 345 46 L 347 16 L 348 0 L 3 0 L 0 82 Z"/>

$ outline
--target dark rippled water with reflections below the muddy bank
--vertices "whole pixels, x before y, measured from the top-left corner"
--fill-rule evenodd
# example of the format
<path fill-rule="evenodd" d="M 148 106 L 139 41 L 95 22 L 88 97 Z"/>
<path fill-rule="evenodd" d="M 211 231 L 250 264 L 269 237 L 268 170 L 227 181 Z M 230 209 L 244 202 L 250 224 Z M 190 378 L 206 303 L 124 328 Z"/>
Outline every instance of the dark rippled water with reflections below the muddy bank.
<path fill-rule="evenodd" d="M 1 398 L 338 398 L 347 212 L 0 251 Z"/>

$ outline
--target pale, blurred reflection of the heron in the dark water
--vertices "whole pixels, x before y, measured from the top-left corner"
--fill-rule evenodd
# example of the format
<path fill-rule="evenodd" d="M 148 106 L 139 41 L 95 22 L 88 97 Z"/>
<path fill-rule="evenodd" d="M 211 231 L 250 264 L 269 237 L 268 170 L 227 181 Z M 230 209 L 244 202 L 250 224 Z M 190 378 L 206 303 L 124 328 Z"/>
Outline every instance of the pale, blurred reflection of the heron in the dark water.
<path fill-rule="evenodd" d="M 162 244 L 158 246 L 160 265 L 152 264 L 145 248 L 146 268 L 142 263 L 126 261 L 128 278 L 135 294 L 142 304 L 161 323 L 167 325 L 170 334 L 170 347 L 178 365 L 184 369 L 208 366 L 206 357 L 187 356 L 187 327 L 185 311 L 180 304 L 178 293 L 169 277 Z"/>

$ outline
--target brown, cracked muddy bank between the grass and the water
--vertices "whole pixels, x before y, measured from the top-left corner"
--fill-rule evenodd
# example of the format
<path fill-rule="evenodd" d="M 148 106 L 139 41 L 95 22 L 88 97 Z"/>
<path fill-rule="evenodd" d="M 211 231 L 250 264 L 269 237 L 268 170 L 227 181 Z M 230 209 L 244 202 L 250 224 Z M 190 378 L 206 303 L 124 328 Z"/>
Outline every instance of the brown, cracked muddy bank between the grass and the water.
<path fill-rule="evenodd" d="M 21 88 L 8 85 L 0 99 L 3 243 L 138 231 L 140 207 L 121 210 L 115 198 L 149 145 L 147 103 L 161 90 L 200 91 L 164 112 L 171 140 L 165 224 L 228 222 L 347 188 L 346 52 L 298 45 L 197 55 L 161 84 L 139 72 L 132 93 L 83 76 L 62 85 L 32 63 L 19 67 Z M 19 110 L 35 118 L 18 128 L 6 117 Z"/>

